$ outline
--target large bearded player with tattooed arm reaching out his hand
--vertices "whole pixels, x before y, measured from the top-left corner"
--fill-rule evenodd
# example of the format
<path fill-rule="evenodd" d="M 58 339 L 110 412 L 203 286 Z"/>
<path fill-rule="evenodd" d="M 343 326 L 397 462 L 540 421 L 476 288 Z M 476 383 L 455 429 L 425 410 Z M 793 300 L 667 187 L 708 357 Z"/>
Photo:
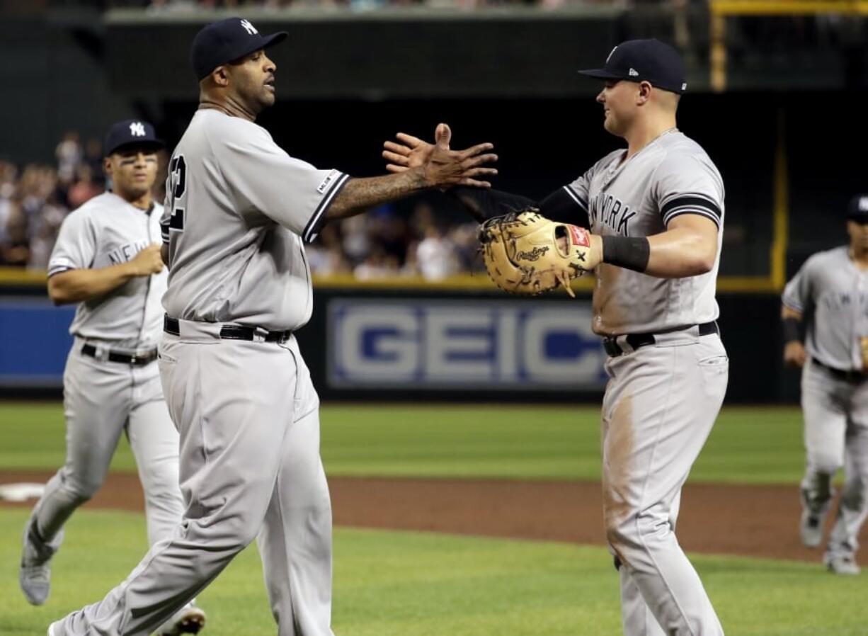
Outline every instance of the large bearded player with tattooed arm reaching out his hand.
<path fill-rule="evenodd" d="M 323 223 L 421 189 L 487 186 L 490 144 L 437 148 L 401 175 L 316 169 L 253 123 L 274 103 L 275 64 L 247 20 L 207 25 L 191 58 L 195 113 L 169 163 L 169 266 L 160 369 L 181 432 L 178 533 L 127 580 L 49 627 L 52 636 L 146 634 L 254 538 L 280 636 L 331 636 L 332 511 L 319 459 L 319 399 L 293 332 L 311 315 L 303 242 Z"/>

